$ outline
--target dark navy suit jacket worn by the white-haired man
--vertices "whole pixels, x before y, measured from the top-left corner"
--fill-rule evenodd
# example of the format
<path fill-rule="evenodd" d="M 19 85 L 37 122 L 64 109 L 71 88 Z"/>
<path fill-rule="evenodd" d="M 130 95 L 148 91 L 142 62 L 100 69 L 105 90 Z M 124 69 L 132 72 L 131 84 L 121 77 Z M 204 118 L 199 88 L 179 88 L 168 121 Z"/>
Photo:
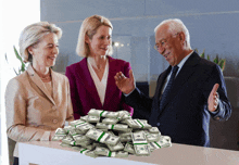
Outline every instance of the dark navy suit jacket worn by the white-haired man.
<path fill-rule="evenodd" d="M 209 147 L 210 116 L 222 120 L 231 114 L 221 68 L 193 52 L 179 71 L 166 104 L 160 111 L 159 98 L 171 68 L 159 76 L 153 99 L 137 89 L 126 97 L 126 103 L 148 112 L 149 123 L 158 126 L 173 142 Z M 207 110 L 207 98 L 215 84 L 219 84 L 219 103 L 217 113 L 213 114 Z"/>

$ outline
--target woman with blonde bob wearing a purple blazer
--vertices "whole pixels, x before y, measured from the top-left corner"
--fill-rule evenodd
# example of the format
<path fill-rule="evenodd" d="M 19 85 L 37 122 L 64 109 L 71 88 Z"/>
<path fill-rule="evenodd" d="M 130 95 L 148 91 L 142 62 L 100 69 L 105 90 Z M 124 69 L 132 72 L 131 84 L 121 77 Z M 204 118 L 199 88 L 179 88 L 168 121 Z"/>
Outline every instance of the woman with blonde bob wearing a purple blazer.
<path fill-rule="evenodd" d="M 124 94 L 115 85 L 117 72 L 128 76 L 130 65 L 113 59 L 111 22 L 100 15 L 87 17 L 79 29 L 76 52 L 84 59 L 66 67 L 70 80 L 74 117 L 87 115 L 90 109 L 120 111 L 133 114 L 125 104 Z"/>

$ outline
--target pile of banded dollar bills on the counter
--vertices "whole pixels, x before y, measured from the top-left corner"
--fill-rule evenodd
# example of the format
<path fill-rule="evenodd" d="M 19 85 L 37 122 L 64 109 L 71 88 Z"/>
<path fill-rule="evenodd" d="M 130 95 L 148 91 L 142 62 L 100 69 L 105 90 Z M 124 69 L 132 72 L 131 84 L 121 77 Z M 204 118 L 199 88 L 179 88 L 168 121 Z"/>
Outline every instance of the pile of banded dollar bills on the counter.
<path fill-rule="evenodd" d="M 86 116 L 58 128 L 52 141 L 61 141 L 91 157 L 126 157 L 129 154 L 149 156 L 160 148 L 172 147 L 171 138 L 144 119 L 133 119 L 123 110 L 109 112 L 91 109 Z"/>

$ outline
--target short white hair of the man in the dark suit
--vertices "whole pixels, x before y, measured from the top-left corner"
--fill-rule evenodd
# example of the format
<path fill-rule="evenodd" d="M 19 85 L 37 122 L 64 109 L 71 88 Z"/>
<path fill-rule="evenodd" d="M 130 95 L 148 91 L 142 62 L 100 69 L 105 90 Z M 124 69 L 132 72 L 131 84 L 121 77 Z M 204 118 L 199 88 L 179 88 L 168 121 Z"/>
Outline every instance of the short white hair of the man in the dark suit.
<path fill-rule="evenodd" d="M 176 33 L 184 33 L 187 41 L 187 46 L 190 47 L 190 35 L 188 28 L 185 26 L 185 24 L 179 18 L 168 18 L 163 22 L 161 22 L 155 28 L 154 33 L 162 26 L 162 25 L 168 25 L 168 31 L 172 33 L 172 35 Z"/>

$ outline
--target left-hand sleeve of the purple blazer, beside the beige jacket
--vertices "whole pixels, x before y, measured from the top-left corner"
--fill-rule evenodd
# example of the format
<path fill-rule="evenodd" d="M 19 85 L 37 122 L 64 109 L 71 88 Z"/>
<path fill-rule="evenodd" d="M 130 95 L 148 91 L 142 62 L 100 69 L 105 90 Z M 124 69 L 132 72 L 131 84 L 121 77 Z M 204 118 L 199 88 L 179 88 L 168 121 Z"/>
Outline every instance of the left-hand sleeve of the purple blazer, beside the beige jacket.
<path fill-rule="evenodd" d="M 71 67 L 66 67 L 65 76 L 68 78 L 70 81 L 70 92 L 71 92 L 74 118 L 78 119 L 80 118 L 80 114 L 79 114 L 80 101 L 76 88 L 76 78 Z"/>

